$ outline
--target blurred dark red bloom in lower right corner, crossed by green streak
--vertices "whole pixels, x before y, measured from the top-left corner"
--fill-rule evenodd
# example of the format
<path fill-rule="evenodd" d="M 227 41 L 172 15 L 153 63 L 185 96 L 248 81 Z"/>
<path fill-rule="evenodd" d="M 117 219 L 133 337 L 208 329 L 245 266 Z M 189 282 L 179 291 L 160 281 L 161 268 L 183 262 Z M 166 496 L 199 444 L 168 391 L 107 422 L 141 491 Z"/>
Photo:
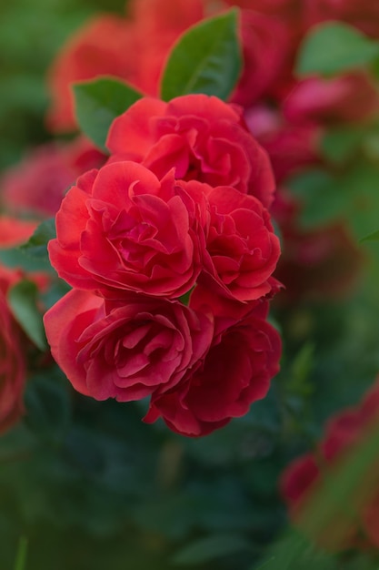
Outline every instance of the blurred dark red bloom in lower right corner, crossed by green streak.
<path fill-rule="evenodd" d="M 379 423 L 379 384 L 364 395 L 356 406 L 338 412 L 327 422 L 324 437 L 314 453 L 294 460 L 281 477 L 281 490 L 294 523 L 307 529 L 314 540 L 328 550 L 374 548 L 379 546 L 379 463 L 375 461 L 364 473 L 354 492 L 346 497 L 348 506 L 336 505 L 330 523 L 324 528 L 312 527 L 304 508 L 314 492 L 349 453 L 358 450 L 364 438 L 377 431 Z M 305 511 L 306 514 L 306 511 Z M 332 517 L 333 514 L 333 517 Z"/>

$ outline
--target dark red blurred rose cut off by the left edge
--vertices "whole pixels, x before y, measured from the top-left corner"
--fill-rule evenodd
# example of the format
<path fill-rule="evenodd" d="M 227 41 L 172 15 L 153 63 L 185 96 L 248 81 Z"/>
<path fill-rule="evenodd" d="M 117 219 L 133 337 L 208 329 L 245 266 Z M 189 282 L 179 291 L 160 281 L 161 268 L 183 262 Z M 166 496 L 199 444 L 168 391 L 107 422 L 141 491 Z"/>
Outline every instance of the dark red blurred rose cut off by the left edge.
<path fill-rule="evenodd" d="M 24 412 L 25 356 L 21 331 L 0 290 L 0 433 Z"/>

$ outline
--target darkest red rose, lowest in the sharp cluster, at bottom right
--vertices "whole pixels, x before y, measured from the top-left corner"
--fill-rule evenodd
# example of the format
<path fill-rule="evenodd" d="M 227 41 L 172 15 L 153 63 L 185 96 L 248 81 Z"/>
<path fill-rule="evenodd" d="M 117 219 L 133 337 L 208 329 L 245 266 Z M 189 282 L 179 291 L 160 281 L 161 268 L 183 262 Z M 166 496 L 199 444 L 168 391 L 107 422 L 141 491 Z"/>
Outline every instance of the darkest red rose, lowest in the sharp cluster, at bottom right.
<path fill-rule="evenodd" d="M 196 302 L 204 309 L 201 300 Z M 264 398 L 279 370 L 281 342 L 265 321 L 267 303 L 263 305 L 241 319 L 231 317 L 227 327 L 217 326 L 204 360 L 175 388 L 153 395 L 145 422 L 162 417 L 176 433 L 206 435 Z"/>

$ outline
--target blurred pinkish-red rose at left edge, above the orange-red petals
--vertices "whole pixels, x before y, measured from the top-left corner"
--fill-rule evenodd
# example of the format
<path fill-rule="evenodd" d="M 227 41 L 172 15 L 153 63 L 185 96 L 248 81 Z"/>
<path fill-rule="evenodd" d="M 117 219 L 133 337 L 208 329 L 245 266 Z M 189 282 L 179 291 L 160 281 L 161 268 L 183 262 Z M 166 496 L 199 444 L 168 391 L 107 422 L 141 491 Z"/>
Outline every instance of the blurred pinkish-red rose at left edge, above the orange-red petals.
<path fill-rule="evenodd" d="M 85 137 L 68 143 L 49 142 L 31 150 L 0 178 L 1 198 L 8 211 L 36 217 L 55 216 L 65 190 L 90 168 L 105 162 L 105 155 Z"/>

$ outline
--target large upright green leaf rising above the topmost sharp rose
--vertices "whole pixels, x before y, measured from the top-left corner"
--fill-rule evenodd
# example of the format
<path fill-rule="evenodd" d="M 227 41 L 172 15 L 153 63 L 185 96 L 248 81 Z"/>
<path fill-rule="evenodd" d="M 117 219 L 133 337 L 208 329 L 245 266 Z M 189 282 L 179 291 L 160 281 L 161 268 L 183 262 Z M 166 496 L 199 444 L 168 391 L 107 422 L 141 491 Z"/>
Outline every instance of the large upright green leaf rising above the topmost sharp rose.
<path fill-rule="evenodd" d="M 162 79 L 165 101 L 189 93 L 227 99 L 242 68 L 238 39 L 238 11 L 234 8 L 194 25 L 171 52 Z"/>

